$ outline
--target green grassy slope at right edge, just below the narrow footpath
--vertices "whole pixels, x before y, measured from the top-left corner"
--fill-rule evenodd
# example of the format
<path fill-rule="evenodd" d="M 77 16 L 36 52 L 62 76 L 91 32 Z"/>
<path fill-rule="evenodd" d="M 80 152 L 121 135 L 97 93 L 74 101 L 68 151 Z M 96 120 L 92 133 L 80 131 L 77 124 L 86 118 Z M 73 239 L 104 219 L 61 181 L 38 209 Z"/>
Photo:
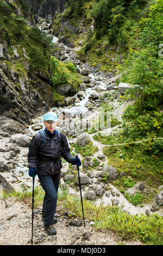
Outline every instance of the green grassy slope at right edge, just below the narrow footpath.
<path fill-rule="evenodd" d="M 134 180 L 158 187 L 163 181 L 163 155 L 146 150 L 145 144 L 148 142 L 104 147 L 103 153 L 108 157 L 108 165 L 116 167 L 119 172 L 126 172 Z"/>

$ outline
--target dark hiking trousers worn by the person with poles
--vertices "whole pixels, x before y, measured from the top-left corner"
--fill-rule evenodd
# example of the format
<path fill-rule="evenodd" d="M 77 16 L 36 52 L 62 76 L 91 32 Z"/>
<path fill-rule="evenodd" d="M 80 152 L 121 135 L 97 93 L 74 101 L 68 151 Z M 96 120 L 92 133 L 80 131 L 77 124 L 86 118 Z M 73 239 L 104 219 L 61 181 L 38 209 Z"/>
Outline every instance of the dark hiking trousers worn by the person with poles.
<path fill-rule="evenodd" d="M 53 224 L 57 208 L 57 192 L 59 188 L 60 172 L 54 175 L 39 175 L 40 184 L 45 191 L 43 198 L 42 213 L 44 214 L 44 225 Z"/>

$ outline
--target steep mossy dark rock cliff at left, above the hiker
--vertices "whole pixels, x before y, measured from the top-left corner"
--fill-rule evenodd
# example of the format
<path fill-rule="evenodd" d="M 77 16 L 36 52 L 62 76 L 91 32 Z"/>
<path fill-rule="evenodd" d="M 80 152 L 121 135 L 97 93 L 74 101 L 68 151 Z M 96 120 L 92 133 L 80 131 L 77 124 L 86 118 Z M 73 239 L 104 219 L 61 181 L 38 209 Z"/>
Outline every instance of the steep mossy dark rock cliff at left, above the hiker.
<path fill-rule="evenodd" d="M 2 8 L 4 8 L 4 6 L 2 5 Z M 24 44 L 23 39 L 27 37 L 27 40 L 30 40 L 30 38 L 28 39 L 24 28 L 29 26 L 27 29 L 28 31 L 32 26 L 32 22 L 29 22 L 31 14 L 27 12 L 26 15 L 23 15 L 21 7 L 16 1 L 11 1 L 8 5 L 8 10 L 9 7 L 16 14 L 16 19 L 26 19 L 27 17 L 27 25 L 25 24 L 24 27 L 20 27 L 20 32 L 16 31 L 17 35 L 15 35 L 13 32 L 15 27 L 11 27 L 11 22 L 14 24 L 15 18 L 13 17 L 13 20 L 11 20 L 11 12 L 9 12 L 10 16 L 8 17 L 6 24 L 5 20 L 2 19 L 1 21 L 0 117 L 3 120 L 8 118 L 8 121 L 10 120 L 11 124 L 14 120 L 22 125 L 26 125 L 31 123 L 32 118 L 47 112 L 49 107 L 55 106 L 56 104 L 51 89 L 51 67 L 46 71 L 30 69 L 28 48 L 26 47 L 26 44 Z M 5 10 L 6 9 L 4 8 L 4 11 Z M 2 9 L 1 13 L 3 15 Z M 4 17 L 4 19 L 6 18 Z M 33 44 L 33 42 L 34 41 L 31 41 L 31 44 Z M 36 43 L 37 42 L 35 42 L 35 44 Z M 44 49 L 41 48 L 40 45 L 37 47 L 39 47 L 40 51 Z"/>

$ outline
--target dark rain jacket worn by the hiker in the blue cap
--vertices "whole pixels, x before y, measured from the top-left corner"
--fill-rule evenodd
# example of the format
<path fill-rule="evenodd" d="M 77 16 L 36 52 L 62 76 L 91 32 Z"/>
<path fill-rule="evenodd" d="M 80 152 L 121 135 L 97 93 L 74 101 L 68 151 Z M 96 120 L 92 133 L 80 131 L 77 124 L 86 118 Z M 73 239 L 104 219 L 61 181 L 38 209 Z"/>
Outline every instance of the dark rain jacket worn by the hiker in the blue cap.
<path fill-rule="evenodd" d="M 64 133 L 60 132 L 61 142 L 59 142 L 57 132 L 52 135 L 46 129 L 45 131 L 48 137 L 45 145 L 42 144 L 43 139 L 40 133 L 32 139 L 28 152 L 29 169 L 37 167 L 38 175 L 57 174 L 61 169 L 60 157 L 64 157 L 68 163 L 71 163 L 74 156 L 70 154 Z"/>

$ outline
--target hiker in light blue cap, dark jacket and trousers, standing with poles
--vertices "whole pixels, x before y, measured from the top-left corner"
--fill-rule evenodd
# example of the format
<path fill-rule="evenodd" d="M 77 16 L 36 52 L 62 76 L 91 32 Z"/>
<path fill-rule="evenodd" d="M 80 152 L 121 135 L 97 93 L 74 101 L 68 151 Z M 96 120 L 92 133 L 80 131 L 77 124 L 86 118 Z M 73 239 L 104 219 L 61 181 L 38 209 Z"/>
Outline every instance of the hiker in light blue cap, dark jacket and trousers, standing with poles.
<path fill-rule="evenodd" d="M 53 224 L 57 222 L 54 215 L 57 208 L 57 192 L 60 181 L 60 157 L 64 157 L 68 163 L 81 165 L 80 159 L 76 159 L 70 154 L 65 134 L 55 130 L 57 121 L 58 117 L 54 112 L 48 112 L 44 115 L 45 130 L 39 131 L 33 137 L 28 153 L 29 176 L 35 177 L 37 174 L 45 191 L 42 219 L 49 235 L 57 234 Z"/>

